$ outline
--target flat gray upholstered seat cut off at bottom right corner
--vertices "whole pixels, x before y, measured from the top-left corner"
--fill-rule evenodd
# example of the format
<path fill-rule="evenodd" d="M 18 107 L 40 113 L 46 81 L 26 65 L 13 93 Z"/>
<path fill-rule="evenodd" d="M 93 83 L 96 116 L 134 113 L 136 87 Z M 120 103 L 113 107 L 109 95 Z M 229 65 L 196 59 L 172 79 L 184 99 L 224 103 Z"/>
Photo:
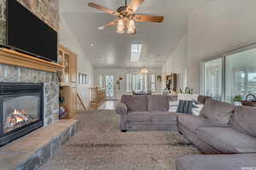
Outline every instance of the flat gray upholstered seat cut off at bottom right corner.
<path fill-rule="evenodd" d="M 178 157 L 176 170 L 242 170 L 256 167 L 256 154 Z"/>

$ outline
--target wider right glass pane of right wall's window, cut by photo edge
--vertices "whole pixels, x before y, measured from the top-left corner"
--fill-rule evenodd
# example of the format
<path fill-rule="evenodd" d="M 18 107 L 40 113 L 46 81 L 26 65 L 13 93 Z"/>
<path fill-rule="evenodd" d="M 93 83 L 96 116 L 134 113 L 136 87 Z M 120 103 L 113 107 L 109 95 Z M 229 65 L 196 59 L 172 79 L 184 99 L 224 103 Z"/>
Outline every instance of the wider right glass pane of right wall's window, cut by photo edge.
<path fill-rule="evenodd" d="M 226 56 L 225 89 L 227 102 L 236 95 L 245 99 L 247 94 L 256 94 L 256 48 Z"/>

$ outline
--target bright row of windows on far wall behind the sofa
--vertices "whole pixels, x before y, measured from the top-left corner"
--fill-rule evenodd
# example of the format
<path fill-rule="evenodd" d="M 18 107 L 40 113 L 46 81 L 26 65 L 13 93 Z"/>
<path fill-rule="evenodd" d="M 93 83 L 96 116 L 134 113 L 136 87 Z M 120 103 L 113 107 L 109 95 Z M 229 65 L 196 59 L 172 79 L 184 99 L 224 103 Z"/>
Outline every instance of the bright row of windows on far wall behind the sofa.
<path fill-rule="evenodd" d="M 156 92 L 155 75 L 126 75 L 126 92 Z"/>

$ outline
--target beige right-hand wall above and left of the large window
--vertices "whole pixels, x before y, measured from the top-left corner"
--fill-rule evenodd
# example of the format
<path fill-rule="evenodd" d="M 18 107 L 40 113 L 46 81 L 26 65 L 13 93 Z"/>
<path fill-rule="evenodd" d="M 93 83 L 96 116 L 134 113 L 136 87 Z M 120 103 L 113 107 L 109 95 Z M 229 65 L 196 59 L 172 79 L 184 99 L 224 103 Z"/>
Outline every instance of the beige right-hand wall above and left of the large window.
<path fill-rule="evenodd" d="M 256 40 L 255 0 L 215 0 L 189 17 L 189 87 L 200 89 L 200 61 Z"/>

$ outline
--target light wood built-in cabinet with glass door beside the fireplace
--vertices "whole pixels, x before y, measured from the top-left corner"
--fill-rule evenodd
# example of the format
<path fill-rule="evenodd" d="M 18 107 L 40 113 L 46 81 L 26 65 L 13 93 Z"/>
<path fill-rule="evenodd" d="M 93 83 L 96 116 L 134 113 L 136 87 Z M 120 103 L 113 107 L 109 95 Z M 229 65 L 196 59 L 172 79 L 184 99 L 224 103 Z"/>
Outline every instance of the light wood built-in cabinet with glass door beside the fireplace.
<path fill-rule="evenodd" d="M 77 115 L 77 55 L 74 54 L 70 49 L 60 45 L 59 61 L 63 66 L 60 74 L 60 93 L 61 97 L 64 98 L 64 101 L 61 103 L 61 106 L 67 110 L 68 118 L 73 118 Z"/>

